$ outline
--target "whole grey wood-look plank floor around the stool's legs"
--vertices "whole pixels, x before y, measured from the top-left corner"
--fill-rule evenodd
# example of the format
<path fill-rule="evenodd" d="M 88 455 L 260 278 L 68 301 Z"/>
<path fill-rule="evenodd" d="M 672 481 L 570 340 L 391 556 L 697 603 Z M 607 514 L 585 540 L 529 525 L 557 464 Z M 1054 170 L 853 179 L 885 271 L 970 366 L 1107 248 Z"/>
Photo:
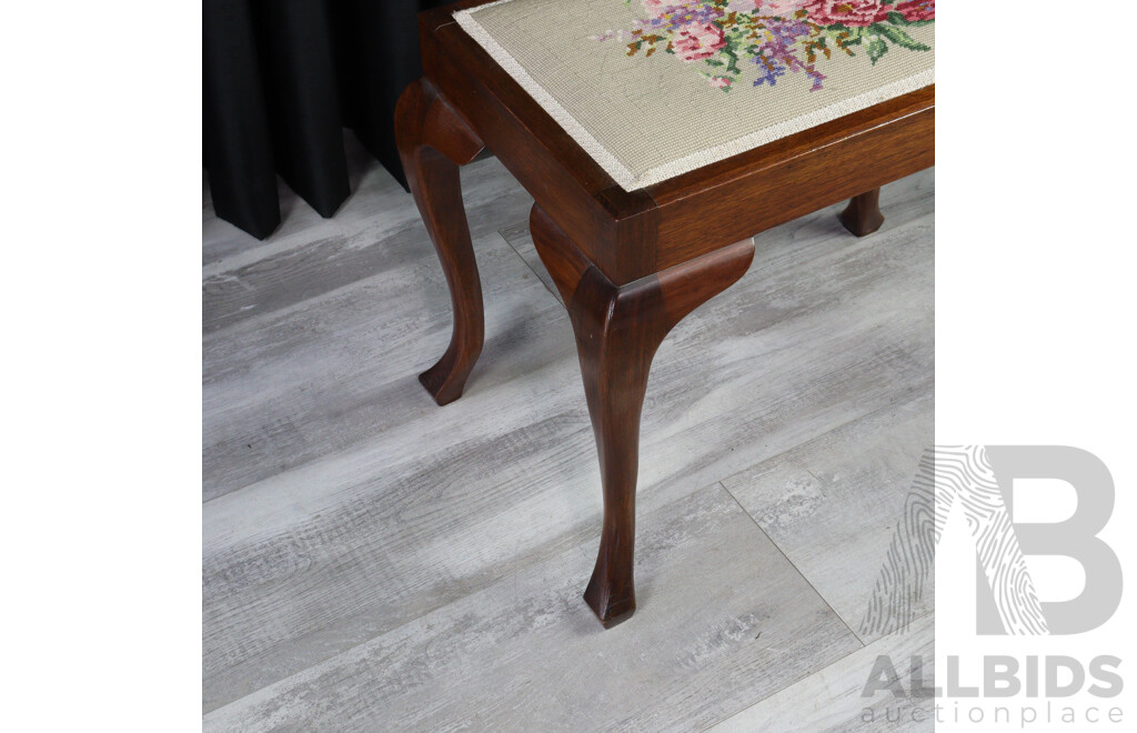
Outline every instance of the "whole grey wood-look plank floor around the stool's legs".
<path fill-rule="evenodd" d="M 904 634 L 858 623 L 932 441 L 932 172 L 886 186 L 875 235 L 836 208 L 760 234 L 664 342 L 640 610 L 603 631 L 599 472 L 531 199 L 496 160 L 463 172 L 487 344 L 439 408 L 416 374 L 449 340 L 442 273 L 352 159 L 334 218 L 282 188 L 264 242 L 205 191 L 206 730 L 931 730 L 865 723 L 895 701 L 861 690 L 878 655 L 930 659 L 932 599 Z"/>

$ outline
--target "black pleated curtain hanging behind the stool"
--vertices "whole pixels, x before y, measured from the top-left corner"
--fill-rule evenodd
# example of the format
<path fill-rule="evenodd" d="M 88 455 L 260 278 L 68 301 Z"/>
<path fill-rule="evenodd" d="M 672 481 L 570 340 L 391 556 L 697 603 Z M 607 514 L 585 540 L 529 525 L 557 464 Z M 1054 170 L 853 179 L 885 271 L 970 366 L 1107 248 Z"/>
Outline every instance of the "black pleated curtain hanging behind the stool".
<path fill-rule="evenodd" d="M 342 127 L 406 188 L 395 102 L 422 74 L 415 14 L 449 0 L 205 0 L 202 151 L 214 209 L 264 239 L 276 175 L 321 216 L 350 193 Z"/>

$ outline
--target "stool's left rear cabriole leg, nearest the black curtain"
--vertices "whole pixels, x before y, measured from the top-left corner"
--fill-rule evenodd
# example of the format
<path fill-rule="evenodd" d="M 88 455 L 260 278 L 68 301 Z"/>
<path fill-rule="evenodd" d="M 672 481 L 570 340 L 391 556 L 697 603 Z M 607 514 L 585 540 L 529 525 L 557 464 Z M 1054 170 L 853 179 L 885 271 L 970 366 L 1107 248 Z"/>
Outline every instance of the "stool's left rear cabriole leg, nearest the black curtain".
<path fill-rule="evenodd" d="M 442 263 L 454 307 L 449 348 L 418 375 L 434 401 L 447 405 L 462 397 L 484 341 L 482 285 L 458 178 L 458 166 L 478 157 L 483 145 L 425 80 L 407 88 L 395 116 L 402 169 Z"/>

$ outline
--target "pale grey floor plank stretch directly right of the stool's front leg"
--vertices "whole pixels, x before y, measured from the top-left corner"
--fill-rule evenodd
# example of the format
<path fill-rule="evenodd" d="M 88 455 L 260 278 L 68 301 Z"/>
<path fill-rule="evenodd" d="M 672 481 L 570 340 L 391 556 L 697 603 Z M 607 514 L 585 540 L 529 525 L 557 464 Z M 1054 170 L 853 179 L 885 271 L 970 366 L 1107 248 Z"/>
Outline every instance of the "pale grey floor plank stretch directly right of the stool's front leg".
<path fill-rule="evenodd" d="M 648 385 L 641 486 L 730 476 L 778 445 L 926 394 L 931 226 L 829 241 L 800 261 L 782 258 L 788 244 L 767 247 L 737 292 L 677 326 Z M 800 249 L 807 257 L 813 242 Z"/>

